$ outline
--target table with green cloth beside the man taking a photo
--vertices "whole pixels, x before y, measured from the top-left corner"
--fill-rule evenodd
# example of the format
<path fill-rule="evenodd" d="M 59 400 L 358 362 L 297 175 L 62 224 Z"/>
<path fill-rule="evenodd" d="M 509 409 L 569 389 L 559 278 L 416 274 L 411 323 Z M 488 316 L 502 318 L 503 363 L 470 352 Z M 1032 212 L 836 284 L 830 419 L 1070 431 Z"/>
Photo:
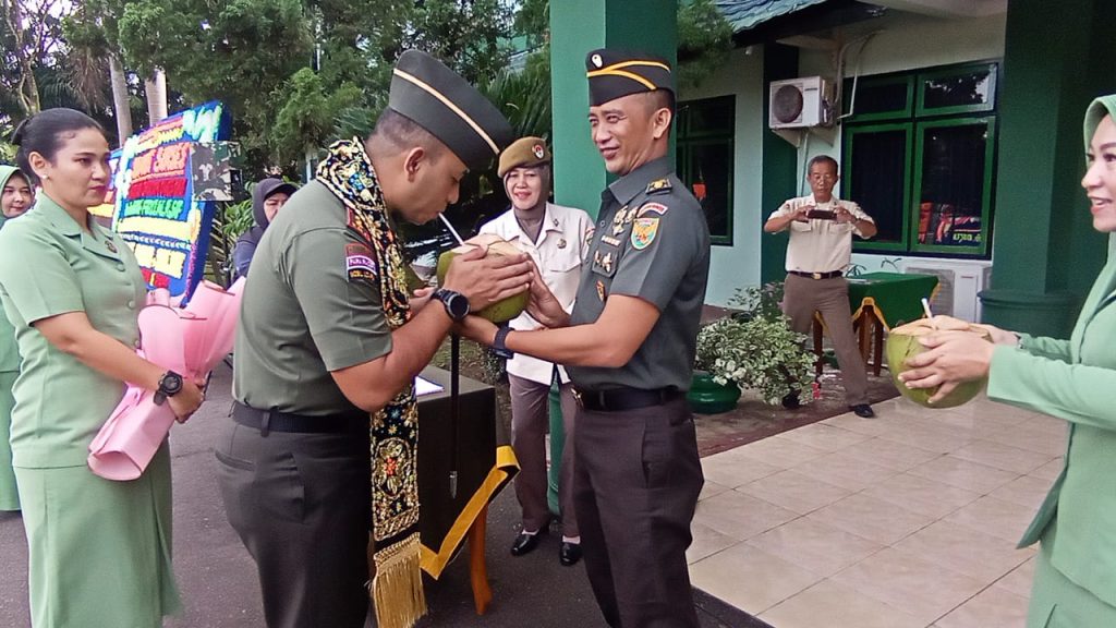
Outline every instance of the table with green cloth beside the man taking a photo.
<path fill-rule="evenodd" d="M 879 375 L 884 351 L 884 330 L 923 317 L 922 299 L 933 301 L 939 283 L 935 275 L 914 273 L 866 273 L 850 276 L 848 303 L 857 332 L 860 354 L 872 372 Z M 814 350 L 821 373 L 821 334 L 825 322 L 814 321 Z"/>

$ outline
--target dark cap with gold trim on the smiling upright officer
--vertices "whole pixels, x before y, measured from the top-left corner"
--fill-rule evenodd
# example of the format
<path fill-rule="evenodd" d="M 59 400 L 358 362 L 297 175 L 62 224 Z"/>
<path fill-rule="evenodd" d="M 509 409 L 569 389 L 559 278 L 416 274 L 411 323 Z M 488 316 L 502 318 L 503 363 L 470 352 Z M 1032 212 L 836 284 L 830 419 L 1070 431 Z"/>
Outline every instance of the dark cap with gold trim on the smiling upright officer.
<path fill-rule="evenodd" d="M 599 106 L 631 94 L 674 92 L 674 75 L 666 59 L 639 53 L 600 48 L 585 58 L 589 104 Z"/>

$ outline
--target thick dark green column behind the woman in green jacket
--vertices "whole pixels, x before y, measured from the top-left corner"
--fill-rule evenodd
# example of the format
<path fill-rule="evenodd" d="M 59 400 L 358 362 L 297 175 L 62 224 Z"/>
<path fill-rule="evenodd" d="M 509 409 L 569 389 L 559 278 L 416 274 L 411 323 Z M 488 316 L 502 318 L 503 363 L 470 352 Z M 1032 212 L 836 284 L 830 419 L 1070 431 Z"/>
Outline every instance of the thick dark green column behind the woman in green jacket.
<path fill-rule="evenodd" d="M 1080 187 L 1081 118 L 1116 91 L 1110 0 L 1011 0 L 1008 7 L 992 245 L 983 318 L 1067 337 L 1107 257 Z"/>

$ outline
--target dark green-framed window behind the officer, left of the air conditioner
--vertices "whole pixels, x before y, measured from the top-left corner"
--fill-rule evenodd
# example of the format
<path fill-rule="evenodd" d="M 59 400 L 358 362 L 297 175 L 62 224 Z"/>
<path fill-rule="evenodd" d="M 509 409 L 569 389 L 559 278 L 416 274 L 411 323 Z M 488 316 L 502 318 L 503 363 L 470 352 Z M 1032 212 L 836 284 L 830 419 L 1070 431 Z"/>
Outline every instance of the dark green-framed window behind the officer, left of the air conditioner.
<path fill-rule="evenodd" d="M 729 95 L 679 103 L 675 123 L 676 173 L 701 202 L 710 242 L 719 246 L 732 246 L 735 99 Z M 721 159 L 702 159 L 711 152 Z"/>

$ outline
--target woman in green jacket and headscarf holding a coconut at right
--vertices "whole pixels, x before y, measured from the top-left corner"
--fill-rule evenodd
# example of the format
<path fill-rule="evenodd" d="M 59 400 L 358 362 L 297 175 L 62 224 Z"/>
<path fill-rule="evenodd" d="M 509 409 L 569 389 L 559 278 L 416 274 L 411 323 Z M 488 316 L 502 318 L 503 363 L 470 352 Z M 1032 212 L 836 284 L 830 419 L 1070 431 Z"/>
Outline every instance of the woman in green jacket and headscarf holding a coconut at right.
<path fill-rule="evenodd" d="M 1116 232 L 1116 95 L 1085 114 L 1081 179 L 1093 228 Z M 907 361 L 911 388 L 988 375 L 988 396 L 1069 422 L 1065 466 L 1020 546 L 1041 542 L 1029 628 L 1116 626 L 1116 258 L 1100 272 L 1069 340 L 992 329 L 994 344 L 942 333 Z"/>

